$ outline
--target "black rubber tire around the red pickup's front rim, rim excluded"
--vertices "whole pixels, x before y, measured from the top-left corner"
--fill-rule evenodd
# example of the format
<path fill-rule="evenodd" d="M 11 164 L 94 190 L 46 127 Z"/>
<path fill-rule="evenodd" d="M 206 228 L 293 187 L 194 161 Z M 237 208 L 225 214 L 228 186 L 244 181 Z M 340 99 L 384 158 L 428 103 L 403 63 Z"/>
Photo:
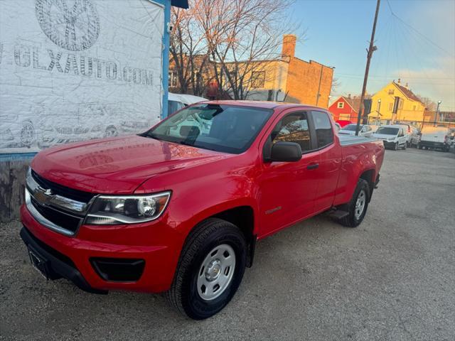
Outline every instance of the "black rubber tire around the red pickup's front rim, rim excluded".
<path fill-rule="evenodd" d="M 200 297 L 198 273 L 213 248 L 228 244 L 235 251 L 234 275 L 223 293 L 211 301 Z M 188 236 L 166 298 L 180 313 L 194 320 L 210 318 L 225 308 L 240 286 L 247 258 L 245 237 L 234 224 L 210 218 L 198 224 Z"/>

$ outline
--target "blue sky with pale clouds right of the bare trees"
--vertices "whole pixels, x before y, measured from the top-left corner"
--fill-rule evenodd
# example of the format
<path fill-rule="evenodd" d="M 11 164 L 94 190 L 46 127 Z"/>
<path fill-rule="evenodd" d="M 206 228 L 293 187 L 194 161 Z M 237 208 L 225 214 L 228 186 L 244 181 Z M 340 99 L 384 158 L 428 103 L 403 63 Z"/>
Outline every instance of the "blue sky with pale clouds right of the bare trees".
<path fill-rule="evenodd" d="M 335 67 L 332 93 L 360 94 L 376 0 L 296 0 L 296 57 Z M 392 15 L 395 13 L 395 16 Z M 302 32 L 304 37 L 302 39 Z M 455 0 L 382 0 L 367 91 L 392 80 L 455 111 Z"/>

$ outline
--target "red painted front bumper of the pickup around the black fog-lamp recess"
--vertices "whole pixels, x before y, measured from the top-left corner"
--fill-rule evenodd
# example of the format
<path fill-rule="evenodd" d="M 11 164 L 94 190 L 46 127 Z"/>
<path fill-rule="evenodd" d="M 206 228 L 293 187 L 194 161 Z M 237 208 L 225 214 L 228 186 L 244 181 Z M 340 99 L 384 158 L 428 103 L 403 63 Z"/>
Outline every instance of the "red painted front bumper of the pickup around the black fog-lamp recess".
<path fill-rule="evenodd" d="M 50 279 L 67 278 L 82 290 L 95 293 L 168 290 L 184 241 L 161 219 L 149 224 L 82 225 L 73 237 L 38 223 L 25 205 L 21 207 L 21 220 L 23 242 L 48 259 L 50 272 L 55 274 Z M 137 281 L 109 281 L 94 259 L 140 259 L 144 267 Z"/>

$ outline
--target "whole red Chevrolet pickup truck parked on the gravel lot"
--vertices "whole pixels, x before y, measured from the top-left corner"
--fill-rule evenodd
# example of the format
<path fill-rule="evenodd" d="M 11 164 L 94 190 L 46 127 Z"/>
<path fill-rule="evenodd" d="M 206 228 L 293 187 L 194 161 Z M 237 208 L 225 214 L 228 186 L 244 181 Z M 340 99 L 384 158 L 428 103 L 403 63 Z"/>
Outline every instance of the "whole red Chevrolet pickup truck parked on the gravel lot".
<path fill-rule="evenodd" d="M 45 278 L 166 291 L 208 318 L 237 291 L 257 240 L 321 212 L 360 224 L 383 157 L 382 142 L 341 139 L 317 107 L 203 102 L 139 136 L 38 153 L 21 237 Z"/>

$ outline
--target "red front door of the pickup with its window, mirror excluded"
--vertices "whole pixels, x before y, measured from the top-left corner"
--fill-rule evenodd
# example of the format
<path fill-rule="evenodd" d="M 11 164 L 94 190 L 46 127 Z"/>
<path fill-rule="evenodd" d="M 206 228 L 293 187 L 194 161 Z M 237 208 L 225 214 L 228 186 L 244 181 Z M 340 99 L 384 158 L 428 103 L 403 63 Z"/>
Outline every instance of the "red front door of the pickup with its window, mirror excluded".
<path fill-rule="evenodd" d="M 296 162 L 263 163 L 259 175 L 260 237 L 314 213 L 320 153 L 314 148 L 310 126 L 307 112 L 291 112 L 279 119 L 267 137 L 269 144 L 277 141 L 297 143 L 303 155 Z M 264 148 L 267 148 L 267 141 Z"/>

